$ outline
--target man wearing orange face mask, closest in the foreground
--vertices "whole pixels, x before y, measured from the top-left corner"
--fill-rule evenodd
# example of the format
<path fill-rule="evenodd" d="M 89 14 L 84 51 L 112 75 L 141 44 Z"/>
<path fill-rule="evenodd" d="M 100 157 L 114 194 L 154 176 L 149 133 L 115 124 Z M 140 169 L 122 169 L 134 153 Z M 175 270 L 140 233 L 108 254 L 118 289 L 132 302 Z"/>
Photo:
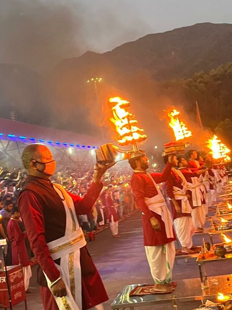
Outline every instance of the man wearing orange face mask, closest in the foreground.
<path fill-rule="evenodd" d="M 49 181 L 56 162 L 46 146 L 27 146 L 22 160 L 28 177 L 19 207 L 40 265 L 38 282 L 44 309 L 103 309 L 108 296 L 86 248 L 77 215 L 92 210 L 103 186 L 101 177 L 112 165 L 95 165 L 93 183 L 80 198 Z"/>

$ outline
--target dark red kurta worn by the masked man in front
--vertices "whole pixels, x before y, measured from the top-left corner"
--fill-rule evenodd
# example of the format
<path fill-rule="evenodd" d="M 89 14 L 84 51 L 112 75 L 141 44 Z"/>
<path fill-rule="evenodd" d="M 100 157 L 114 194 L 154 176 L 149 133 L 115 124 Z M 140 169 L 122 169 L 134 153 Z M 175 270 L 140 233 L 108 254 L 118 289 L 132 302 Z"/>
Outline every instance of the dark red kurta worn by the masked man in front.
<path fill-rule="evenodd" d="M 73 199 L 77 214 L 86 214 L 92 210 L 102 186 L 102 183 L 92 183 L 83 198 L 68 192 Z M 49 254 L 47 243 L 65 235 L 66 212 L 63 202 L 49 180 L 32 176 L 28 176 L 18 202 L 31 249 L 42 270 L 53 282 L 60 276 L 60 272 Z M 59 264 L 60 259 L 55 262 Z M 80 263 L 82 309 L 85 310 L 105 302 L 108 296 L 86 247 L 80 249 Z M 39 285 L 46 286 L 46 279 L 41 270 L 39 271 Z M 49 292 L 47 294 L 49 295 Z M 46 305 L 47 295 L 42 294 L 42 299 Z M 45 309 L 48 310 L 48 308 Z M 55 300 L 54 307 L 49 310 L 54 309 L 57 309 Z"/>

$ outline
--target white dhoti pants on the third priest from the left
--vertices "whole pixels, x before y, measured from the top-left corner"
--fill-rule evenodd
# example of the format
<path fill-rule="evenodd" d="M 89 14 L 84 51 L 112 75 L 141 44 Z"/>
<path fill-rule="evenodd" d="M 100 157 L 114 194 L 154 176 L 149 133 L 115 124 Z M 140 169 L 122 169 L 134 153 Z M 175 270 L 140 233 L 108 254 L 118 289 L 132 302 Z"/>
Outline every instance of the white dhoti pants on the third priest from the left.
<path fill-rule="evenodd" d="M 195 231 L 191 216 L 182 216 L 176 218 L 173 222 L 181 246 L 191 249 L 192 235 Z"/>

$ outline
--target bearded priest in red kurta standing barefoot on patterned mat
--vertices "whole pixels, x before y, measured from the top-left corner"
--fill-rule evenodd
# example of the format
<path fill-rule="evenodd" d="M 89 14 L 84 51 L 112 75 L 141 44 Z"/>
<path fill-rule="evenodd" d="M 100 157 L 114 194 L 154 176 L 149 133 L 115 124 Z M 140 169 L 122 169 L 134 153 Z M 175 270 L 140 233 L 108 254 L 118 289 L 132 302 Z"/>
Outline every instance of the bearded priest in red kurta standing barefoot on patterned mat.
<path fill-rule="evenodd" d="M 131 187 L 142 212 L 145 252 L 156 291 L 170 291 L 175 259 L 175 234 L 170 212 L 156 183 L 167 180 L 172 168 L 170 155 L 163 173 L 147 173 L 148 158 L 143 155 L 129 160 L 134 170 Z"/>

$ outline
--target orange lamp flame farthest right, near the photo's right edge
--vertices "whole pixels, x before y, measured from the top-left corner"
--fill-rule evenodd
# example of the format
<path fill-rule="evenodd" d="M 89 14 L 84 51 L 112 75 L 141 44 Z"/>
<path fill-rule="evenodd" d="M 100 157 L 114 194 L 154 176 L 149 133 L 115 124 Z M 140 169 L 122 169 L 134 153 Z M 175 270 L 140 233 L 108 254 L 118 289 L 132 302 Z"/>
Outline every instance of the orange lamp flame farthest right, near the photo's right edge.
<path fill-rule="evenodd" d="M 212 154 L 213 158 L 219 159 L 223 158 L 224 161 L 230 161 L 231 157 L 229 156 L 231 150 L 218 139 L 214 134 L 211 139 L 206 141 L 207 147 L 211 150 L 209 154 Z"/>

